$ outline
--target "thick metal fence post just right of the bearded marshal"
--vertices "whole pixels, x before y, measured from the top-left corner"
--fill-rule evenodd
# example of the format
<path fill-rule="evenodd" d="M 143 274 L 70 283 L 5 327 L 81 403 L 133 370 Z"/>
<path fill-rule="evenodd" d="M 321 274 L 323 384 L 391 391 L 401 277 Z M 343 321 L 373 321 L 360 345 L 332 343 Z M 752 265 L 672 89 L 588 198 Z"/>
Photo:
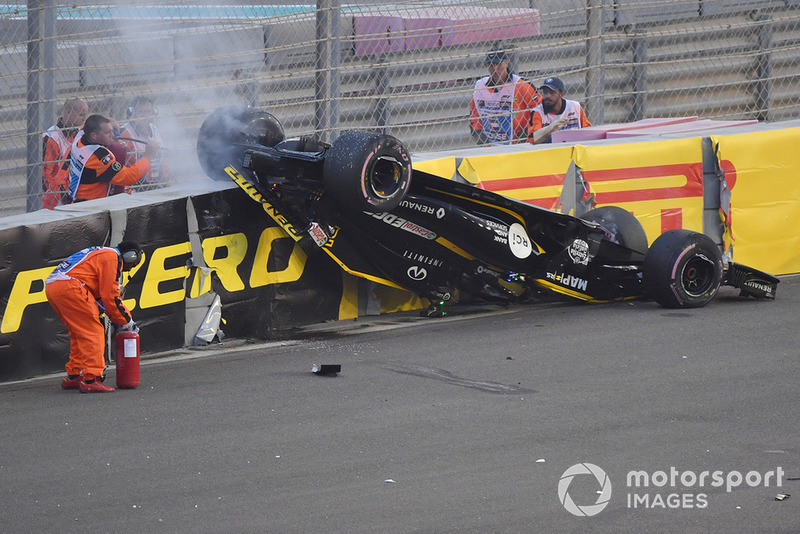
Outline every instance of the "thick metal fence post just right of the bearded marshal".
<path fill-rule="evenodd" d="M 605 106 L 603 0 L 587 0 L 586 30 L 586 115 L 592 124 L 601 124 Z"/>

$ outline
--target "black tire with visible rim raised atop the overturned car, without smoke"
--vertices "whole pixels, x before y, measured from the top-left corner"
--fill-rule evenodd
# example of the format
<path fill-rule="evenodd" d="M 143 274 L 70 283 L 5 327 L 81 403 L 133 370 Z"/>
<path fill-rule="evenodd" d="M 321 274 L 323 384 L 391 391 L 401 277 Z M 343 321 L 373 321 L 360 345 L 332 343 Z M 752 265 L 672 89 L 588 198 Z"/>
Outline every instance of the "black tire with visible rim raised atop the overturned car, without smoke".
<path fill-rule="evenodd" d="M 323 181 L 336 201 L 360 211 L 392 211 L 411 187 L 411 158 L 390 135 L 344 132 L 328 149 Z"/>

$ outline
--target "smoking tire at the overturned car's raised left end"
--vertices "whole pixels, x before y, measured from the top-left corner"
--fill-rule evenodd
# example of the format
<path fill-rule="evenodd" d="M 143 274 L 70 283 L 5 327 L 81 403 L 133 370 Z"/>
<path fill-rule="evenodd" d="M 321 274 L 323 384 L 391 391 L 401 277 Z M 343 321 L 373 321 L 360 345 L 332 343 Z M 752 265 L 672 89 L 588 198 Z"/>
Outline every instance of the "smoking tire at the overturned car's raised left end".
<path fill-rule="evenodd" d="M 285 139 L 283 126 L 274 115 L 248 106 L 225 106 L 212 112 L 197 136 L 197 158 L 214 180 L 227 180 L 225 167 L 241 170 L 248 146 L 272 147 Z"/>

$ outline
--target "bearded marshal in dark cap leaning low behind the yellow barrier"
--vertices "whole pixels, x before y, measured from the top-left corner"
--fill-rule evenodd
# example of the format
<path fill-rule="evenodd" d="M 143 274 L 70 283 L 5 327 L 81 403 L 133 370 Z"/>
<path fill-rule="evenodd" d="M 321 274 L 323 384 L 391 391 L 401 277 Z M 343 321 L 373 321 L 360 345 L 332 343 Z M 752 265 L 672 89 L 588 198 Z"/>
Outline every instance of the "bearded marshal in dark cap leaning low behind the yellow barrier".
<path fill-rule="evenodd" d="M 564 82 L 559 78 L 547 78 L 539 88 L 542 103 L 531 115 L 528 141 L 538 145 L 552 143 L 551 136 L 557 130 L 588 128 L 592 125 L 580 102 L 564 98 Z"/>

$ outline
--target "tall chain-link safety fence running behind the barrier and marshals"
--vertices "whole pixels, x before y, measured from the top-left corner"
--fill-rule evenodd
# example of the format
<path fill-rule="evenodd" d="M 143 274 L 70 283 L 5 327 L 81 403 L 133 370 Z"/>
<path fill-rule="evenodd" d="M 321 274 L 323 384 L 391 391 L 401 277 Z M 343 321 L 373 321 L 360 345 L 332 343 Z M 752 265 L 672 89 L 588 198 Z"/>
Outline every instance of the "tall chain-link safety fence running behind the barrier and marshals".
<path fill-rule="evenodd" d="M 412 151 L 474 145 L 487 50 L 566 83 L 593 123 L 800 117 L 800 0 L 439 0 L 0 4 L 0 216 L 42 205 L 42 134 L 81 98 L 153 100 L 174 182 L 202 179 L 213 109 L 263 107 L 288 135 L 376 129 Z"/>

